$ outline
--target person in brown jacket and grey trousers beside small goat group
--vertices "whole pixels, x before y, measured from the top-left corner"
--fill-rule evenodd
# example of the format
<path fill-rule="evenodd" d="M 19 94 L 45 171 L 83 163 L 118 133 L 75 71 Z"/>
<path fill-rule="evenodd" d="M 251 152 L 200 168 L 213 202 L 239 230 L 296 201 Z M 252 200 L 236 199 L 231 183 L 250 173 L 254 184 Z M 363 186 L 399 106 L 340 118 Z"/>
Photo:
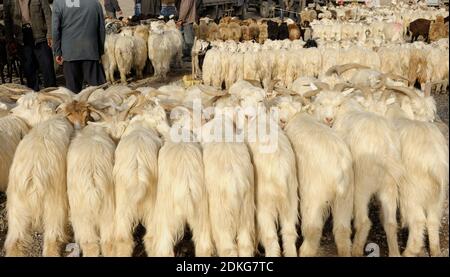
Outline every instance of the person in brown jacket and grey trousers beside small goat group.
<path fill-rule="evenodd" d="M 184 59 L 189 61 L 194 45 L 194 22 L 197 20 L 195 0 L 181 0 L 177 25 L 182 27 L 184 38 Z"/>

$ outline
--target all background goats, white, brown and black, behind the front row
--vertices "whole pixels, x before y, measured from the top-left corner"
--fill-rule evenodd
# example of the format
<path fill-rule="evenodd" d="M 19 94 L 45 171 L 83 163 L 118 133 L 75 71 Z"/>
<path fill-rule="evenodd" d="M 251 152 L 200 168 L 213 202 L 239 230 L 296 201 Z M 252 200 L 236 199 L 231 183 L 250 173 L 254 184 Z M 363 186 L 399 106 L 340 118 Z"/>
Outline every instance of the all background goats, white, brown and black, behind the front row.
<path fill-rule="evenodd" d="M 203 65 L 198 65 L 205 67 L 203 81 L 228 88 L 236 80 L 254 79 L 266 88 L 271 79 L 279 79 L 290 88 L 297 77 L 320 79 L 331 66 L 359 63 L 403 77 L 409 85 L 417 82 L 422 90 L 427 83 L 444 82 L 442 88 L 447 87 L 448 10 L 402 4 L 389 9 L 323 7 L 303 11 L 301 18 L 301 24 L 289 18 L 224 17 L 217 23 L 200 19 L 194 24 L 193 53 L 206 52 Z M 171 64 L 181 67 L 183 38 L 173 20 L 123 25 L 107 23 L 113 31 L 107 35 L 102 61 L 109 82 L 114 83 L 119 71 L 126 84 L 132 69 L 141 79 L 148 60 L 161 79 Z M 406 43 L 408 36 L 413 43 Z M 425 41 L 415 41 L 419 36 Z"/>

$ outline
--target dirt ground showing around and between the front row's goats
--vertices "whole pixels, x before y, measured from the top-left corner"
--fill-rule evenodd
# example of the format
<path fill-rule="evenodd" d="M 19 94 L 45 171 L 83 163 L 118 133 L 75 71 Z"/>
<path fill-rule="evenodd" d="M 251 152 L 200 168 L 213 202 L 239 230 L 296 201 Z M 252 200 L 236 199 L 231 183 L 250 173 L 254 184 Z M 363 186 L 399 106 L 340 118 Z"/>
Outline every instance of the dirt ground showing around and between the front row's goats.
<path fill-rule="evenodd" d="M 185 63 L 183 65 L 184 69 L 174 70 L 169 74 L 169 80 L 167 82 L 175 82 L 180 81 L 181 77 L 184 74 L 189 73 L 189 63 Z M 149 72 L 148 72 L 149 73 Z M 58 82 L 63 82 L 63 77 L 61 75 L 58 76 Z M 153 82 L 150 81 L 146 85 L 152 87 L 159 87 L 163 85 L 161 82 Z M 447 94 L 439 94 L 435 95 L 435 99 L 438 107 L 438 114 L 442 121 L 445 123 L 446 127 L 445 135 L 448 140 L 448 122 L 449 122 L 449 107 L 448 107 L 448 93 Z M 447 192 L 448 195 L 448 192 Z M 386 236 L 382 225 L 379 220 L 380 209 L 378 203 L 373 201 L 370 208 L 370 219 L 373 222 L 372 229 L 369 234 L 369 238 L 367 243 L 375 243 L 379 246 L 380 256 L 387 256 L 387 244 L 386 244 Z M 441 248 L 442 255 L 449 256 L 449 207 L 448 207 L 448 197 L 445 204 L 445 212 L 442 218 L 442 227 L 440 232 L 441 238 Z M 5 242 L 5 237 L 7 233 L 7 217 L 6 217 L 6 195 L 4 193 L 0 193 L 0 256 L 4 255 L 3 245 Z M 300 228 L 298 228 L 299 239 L 297 241 L 298 246 L 300 246 L 302 238 L 300 235 Z M 144 247 L 142 245 L 142 237 L 145 234 L 145 229 L 142 226 L 138 226 L 135 231 L 135 240 L 136 240 L 136 249 L 134 251 L 133 256 L 142 257 L 146 256 Z M 399 244 L 401 250 L 403 250 L 406 246 L 406 241 L 408 237 L 408 232 L 406 230 L 399 229 Z M 189 230 L 186 230 L 184 239 L 178 243 L 176 246 L 176 255 L 181 257 L 193 256 L 194 255 L 194 245 L 191 240 L 191 233 Z M 70 240 L 73 242 L 73 238 Z M 263 249 L 259 248 L 258 256 L 263 255 Z M 42 234 L 35 233 L 34 234 L 34 242 L 30 247 L 29 255 L 30 256 L 40 256 L 42 253 Z M 66 256 L 69 253 L 63 253 Z M 367 253 L 368 254 L 368 253 Z M 332 234 L 332 220 L 329 219 L 326 223 L 326 226 L 323 231 L 323 237 L 321 242 L 321 248 L 319 252 L 320 256 L 336 256 L 336 247 L 334 244 L 333 234 Z M 424 256 L 428 256 L 428 248 L 426 247 Z"/>

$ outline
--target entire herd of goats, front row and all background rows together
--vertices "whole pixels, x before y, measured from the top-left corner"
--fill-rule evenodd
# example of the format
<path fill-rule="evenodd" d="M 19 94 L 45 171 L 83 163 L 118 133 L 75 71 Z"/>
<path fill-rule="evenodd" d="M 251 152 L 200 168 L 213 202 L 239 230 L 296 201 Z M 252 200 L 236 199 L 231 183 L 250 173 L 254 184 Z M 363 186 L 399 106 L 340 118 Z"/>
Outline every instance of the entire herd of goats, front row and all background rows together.
<path fill-rule="evenodd" d="M 6 255 L 27 255 L 39 231 L 42 255 L 60 256 L 70 224 L 83 256 L 131 256 L 140 223 L 148 256 L 174 256 L 187 225 L 195 256 L 254 256 L 258 244 L 267 257 L 317 256 L 331 216 L 337 255 L 362 256 L 373 197 L 389 256 L 421 255 L 425 233 L 441 255 L 448 127 L 430 84 L 448 85 L 448 33 L 404 37 L 417 16 L 441 23 L 446 13 L 399 4 L 306 10 L 300 26 L 204 19 L 193 49 L 206 51 L 203 84 L 157 89 L 127 86 L 127 75 L 142 78 L 149 59 L 165 79 L 180 64 L 175 22 L 107 22 L 108 84 L 79 94 L 0 85 Z M 402 253 L 399 226 L 409 231 Z"/>

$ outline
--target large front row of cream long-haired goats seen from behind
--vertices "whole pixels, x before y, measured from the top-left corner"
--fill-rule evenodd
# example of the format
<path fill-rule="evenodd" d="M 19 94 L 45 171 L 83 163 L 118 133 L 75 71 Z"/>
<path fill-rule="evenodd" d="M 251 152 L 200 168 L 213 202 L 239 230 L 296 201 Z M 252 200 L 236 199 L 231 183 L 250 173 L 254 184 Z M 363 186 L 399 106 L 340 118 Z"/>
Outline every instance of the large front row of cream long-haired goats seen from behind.
<path fill-rule="evenodd" d="M 353 76 L 368 70 L 346 64 L 327 75 L 349 68 Z M 2 107 L 10 109 L 0 118 L 6 255 L 25 255 L 32 230 L 44 233 L 44 256 L 59 255 L 70 221 L 84 256 L 130 256 L 137 223 L 146 228 L 149 256 L 173 256 L 186 224 L 196 256 L 253 256 L 257 243 L 266 256 L 281 249 L 315 256 L 331 213 L 338 255 L 360 256 L 373 196 L 390 256 L 400 255 L 397 209 L 409 229 L 403 255 L 421 253 L 425 230 L 431 255 L 440 255 L 449 167 L 434 99 L 389 76 L 366 85 L 354 79 L 312 80 L 301 90 L 239 80 L 225 91 L 115 85 L 78 95 L 1 86 Z M 248 108 L 262 113 L 246 114 L 239 125 L 238 110 Z M 270 152 L 261 148 L 267 129 L 247 137 L 265 115 L 276 123 Z M 175 126 L 193 139 L 174 139 Z M 212 126 L 231 126 L 245 140 L 211 140 Z"/>

